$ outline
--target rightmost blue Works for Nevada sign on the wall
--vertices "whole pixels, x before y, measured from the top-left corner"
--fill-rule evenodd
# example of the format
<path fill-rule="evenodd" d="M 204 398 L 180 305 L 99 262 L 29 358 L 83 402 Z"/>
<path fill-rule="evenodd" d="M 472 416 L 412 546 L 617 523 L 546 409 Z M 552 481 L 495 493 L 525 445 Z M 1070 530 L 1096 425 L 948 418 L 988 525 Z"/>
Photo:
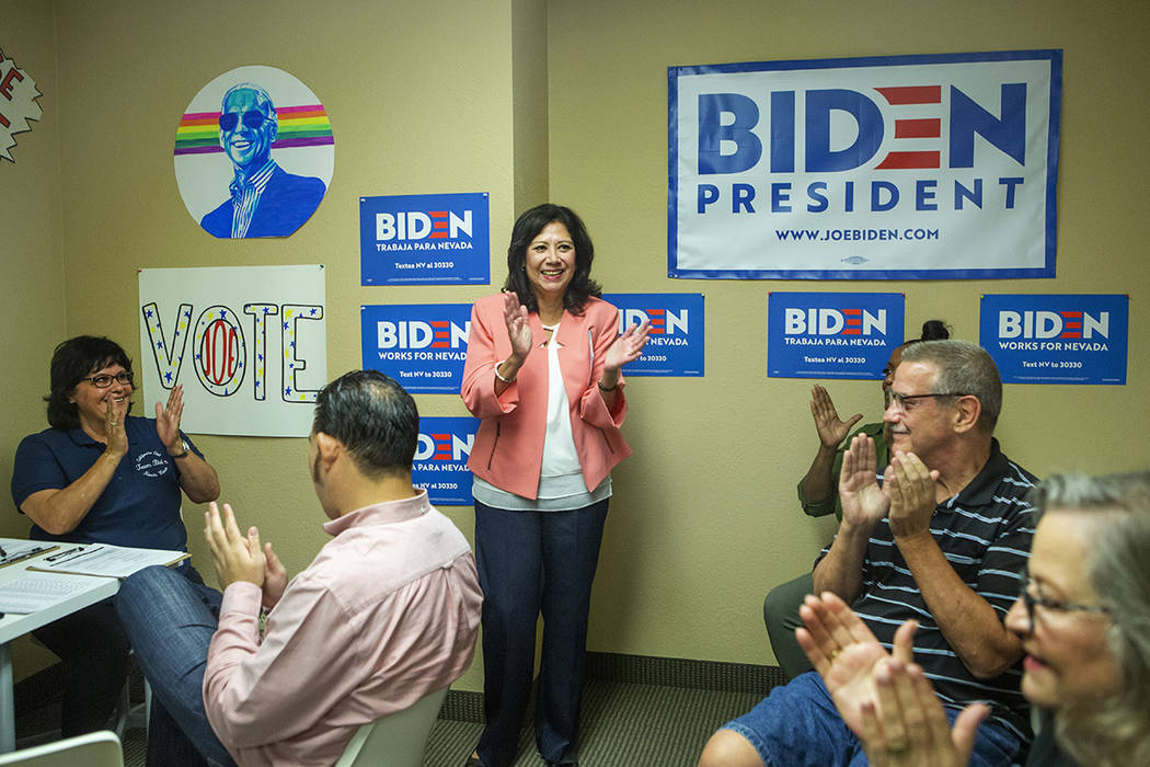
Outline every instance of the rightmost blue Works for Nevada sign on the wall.
<path fill-rule="evenodd" d="M 1004 383 L 1125 384 L 1128 296 L 983 296 L 979 343 Z"/>

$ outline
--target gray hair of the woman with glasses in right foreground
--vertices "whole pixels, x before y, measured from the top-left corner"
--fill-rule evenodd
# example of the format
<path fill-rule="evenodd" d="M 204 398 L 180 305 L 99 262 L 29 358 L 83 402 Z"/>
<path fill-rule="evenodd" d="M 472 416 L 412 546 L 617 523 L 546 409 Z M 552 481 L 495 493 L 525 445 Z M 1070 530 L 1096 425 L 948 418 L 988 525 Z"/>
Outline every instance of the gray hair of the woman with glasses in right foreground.
<path fill-rule="evenodd" d="M 1056 712 L 1058 742 L 1082 765 L 1150 765 L 1150 471 L 1056 475 L 1036 496 L 1042 511 L 1092 517 L 1086 572 L 1122 680 L 1101 704 Z"/>

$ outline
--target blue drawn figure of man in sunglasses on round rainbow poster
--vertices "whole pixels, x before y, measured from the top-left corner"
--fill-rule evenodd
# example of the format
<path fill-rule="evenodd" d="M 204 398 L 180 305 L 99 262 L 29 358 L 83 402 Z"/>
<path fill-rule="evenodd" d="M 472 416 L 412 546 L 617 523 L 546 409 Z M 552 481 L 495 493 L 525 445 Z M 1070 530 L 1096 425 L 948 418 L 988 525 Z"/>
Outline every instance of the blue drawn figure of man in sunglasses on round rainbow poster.
<path fill-rule="evenodd" d="M 220 110 L 220 147 L 235 175 L 228 199 L 200 221 L 206 231 L 221 238 L 286 237 L 319 207 L 324 183 L 289 174 L 271 159 L 278 132 L 266 90 L 252 83 L 228 89 Z"/>

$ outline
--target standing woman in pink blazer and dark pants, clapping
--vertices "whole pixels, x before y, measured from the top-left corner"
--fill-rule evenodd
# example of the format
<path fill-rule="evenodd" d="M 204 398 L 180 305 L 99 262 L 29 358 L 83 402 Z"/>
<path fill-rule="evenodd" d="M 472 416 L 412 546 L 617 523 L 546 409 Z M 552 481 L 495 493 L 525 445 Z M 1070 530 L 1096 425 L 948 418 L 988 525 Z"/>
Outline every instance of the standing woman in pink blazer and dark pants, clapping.
<path fill-rule="evenodd" d="M 471 309 L 460 393 L 482 419 L 468 467 L 486 715 L 471 767 L 515 761 L 540 612 L 536 745 L 549 765 L 577 764 L 591 581 L 611 469 L 630 454 L 620 369 L 647 337 L 646 323 L 619 335 L 619 313 L 591 279 L 593 256 L 573 210 L 531 208 L 512 230 L 504 292 Z"/>

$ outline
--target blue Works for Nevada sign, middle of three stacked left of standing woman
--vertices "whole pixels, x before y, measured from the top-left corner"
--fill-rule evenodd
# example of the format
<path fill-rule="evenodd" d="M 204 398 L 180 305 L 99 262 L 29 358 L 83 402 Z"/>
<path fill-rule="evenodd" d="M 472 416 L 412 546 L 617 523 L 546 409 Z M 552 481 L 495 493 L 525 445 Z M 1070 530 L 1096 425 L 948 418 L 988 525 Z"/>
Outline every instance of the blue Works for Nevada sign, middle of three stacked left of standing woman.
<path fill-rule="evenodd" d="M 470 327 L 470 304 L 361 306 L 363 367 L 413 393 L 458 394 Z"/>

